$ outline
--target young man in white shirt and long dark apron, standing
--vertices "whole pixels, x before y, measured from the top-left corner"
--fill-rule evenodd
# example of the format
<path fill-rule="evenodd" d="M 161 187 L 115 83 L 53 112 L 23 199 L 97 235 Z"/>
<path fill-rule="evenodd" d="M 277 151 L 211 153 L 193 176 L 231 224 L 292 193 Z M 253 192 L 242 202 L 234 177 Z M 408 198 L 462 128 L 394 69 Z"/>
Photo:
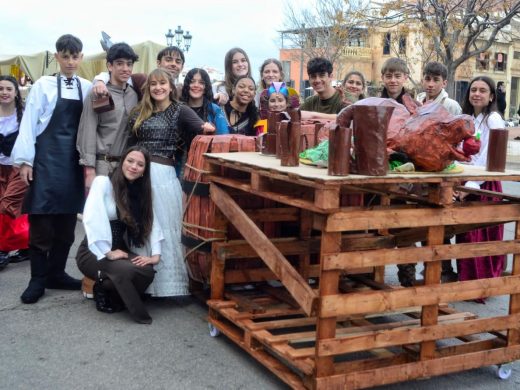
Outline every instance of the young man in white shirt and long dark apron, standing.
<path fill-rule="evenodd" d="M 23 303 L 37 302 L 46 288 L 81 288 L 79 280 L 65 273 L 65 265 L 85 202 L 76 136 L 92 84 L 76 76 L 82 50 L 73 35 L 57 40 L 54 57 L 60 73 L 33 85 L 13 148 L 14 165 L 29 185 L 22 212 L 29 214 L 31 280 L 20 297 Z"/>

